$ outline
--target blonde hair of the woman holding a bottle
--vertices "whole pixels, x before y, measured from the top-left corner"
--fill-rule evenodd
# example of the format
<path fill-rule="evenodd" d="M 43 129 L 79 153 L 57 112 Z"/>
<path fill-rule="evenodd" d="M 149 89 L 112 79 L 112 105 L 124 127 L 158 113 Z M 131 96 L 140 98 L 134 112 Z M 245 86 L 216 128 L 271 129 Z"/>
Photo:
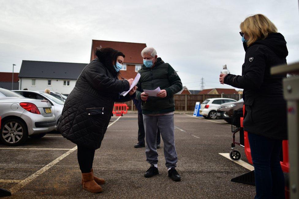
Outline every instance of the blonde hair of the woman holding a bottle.
<path fill-rule="evenodd" d="M 249 36 L 247 46 L 250 46 L 258 39 L 265 39 L 269 33 L 277 32 L 276 26 L 262 14 L 255 14 L 247 17 L 240 24 L 241 31 Z"/>

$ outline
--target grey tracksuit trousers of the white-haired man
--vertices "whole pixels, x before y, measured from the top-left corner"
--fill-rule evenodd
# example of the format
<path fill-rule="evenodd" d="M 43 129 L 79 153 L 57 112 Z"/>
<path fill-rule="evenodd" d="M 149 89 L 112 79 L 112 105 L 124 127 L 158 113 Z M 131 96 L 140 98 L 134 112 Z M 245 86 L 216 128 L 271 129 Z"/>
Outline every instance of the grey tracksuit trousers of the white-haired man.
<path fill-rule="evenodd" d="M 173 115 L 143 115 L 143 124 L 146 138 L 146 161 L 151 165 L 158 163 L 158 153 L 156 147 L 158 127 L 164 143 L 166 167 L 176 167 L 178 158 L 174 144 Z"/>

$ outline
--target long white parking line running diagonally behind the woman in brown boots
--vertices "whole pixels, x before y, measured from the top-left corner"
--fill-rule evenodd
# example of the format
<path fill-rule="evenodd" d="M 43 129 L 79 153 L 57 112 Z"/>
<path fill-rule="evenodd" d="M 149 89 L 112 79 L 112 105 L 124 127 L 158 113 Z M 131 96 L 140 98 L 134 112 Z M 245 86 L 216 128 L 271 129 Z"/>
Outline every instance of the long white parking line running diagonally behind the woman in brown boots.
<path fill-rule="evenodd" d="M 119 118 L 121 118 L 121 116 Z M 116 121 L 118 121 L 119 118 L 117 118 L 114 122 L 112 122 L 111 124 L 109 124 L 107 128 L 109 128 L 112 124 L 114 124 Z M 47 164 L 46 166 L 44 166 L 43 168 L 41 168 L 40 170 L 36 171 L 34 174 L 30 175 L 28 178 L 25 178 L 23 181 L 19 182 L 17 185 L 13 186 L 10 189 L 11 193 L 12 194 L 16 193 L 23 186 L 27 185 L 29 182 L 31 182 L 32 180 L 34 180 L 36 177 L 38 177 L 39 175 L 41 175 L 42 173 L 44 173 L 45 171 L 47 171 L 49 168 L 53 167 L 56 163 L 58 163 L 60 160 L 62 160 L 66 156 L 68 156 L 70 153 L 74 152 L 76 149 L 77 149 L 77 146 L 75 146 L 74 148 L 70 149 L 66 153 L 62 154 L 61 156 L 59 156 L 58 158 L 56 158 L 55 160 L 53 160 L 52 162 L 50 162 L 49 164 Z"/>

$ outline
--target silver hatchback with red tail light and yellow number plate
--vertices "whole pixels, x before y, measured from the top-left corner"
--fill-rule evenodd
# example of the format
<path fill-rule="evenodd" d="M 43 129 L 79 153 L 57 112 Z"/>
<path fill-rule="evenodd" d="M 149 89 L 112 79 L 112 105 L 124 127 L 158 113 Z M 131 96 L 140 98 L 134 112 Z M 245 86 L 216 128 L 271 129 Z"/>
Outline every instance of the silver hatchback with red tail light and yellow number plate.
<path fill-rule="evenodd" d="M 9 146 L 24 143 L 28 136 L 43 137 L 56 128 L 48 101 L 28 99 L 4 88 L 0 88 L 0 116 L 0 140 Z"/>

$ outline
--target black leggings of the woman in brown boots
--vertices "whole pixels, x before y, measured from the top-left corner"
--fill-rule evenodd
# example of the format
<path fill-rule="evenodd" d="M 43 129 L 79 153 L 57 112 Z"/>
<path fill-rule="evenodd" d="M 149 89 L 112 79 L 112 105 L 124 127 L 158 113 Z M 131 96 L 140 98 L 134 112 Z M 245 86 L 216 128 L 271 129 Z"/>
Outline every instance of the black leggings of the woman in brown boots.
<path fill-rule="evenodd" d="M 89 173 L 93 167 L 95 149 L 78 146 L 77 156 L 80 170 L 82 173 Z"/>

